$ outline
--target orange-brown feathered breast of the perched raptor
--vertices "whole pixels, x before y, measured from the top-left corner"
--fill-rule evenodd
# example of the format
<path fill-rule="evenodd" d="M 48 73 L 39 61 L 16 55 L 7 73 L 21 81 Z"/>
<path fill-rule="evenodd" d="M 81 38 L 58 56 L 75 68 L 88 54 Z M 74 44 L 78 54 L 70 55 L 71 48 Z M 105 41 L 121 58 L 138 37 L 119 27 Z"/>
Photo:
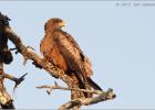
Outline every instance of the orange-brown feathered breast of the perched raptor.
<path fill-rule="evenodd" d="M 60 67 L 63 70 L 66 70 L 66 63 L 62 54 L 60 53 L 58 45 L 53 40 L 52 33 L 46 33 L 41 41 L 40 51 L 43 53 L 43 56 L 55 66 Z"/>

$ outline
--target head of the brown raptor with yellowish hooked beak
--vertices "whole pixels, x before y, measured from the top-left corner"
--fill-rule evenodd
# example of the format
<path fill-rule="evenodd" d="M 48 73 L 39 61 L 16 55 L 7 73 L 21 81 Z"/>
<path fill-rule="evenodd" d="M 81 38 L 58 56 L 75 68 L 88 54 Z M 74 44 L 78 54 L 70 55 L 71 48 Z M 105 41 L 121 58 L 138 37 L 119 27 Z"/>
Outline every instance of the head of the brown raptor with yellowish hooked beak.
<path fill-rule="evenodd" d="M 63 20 L 59 18 L 52 18 L 45 23 L 44 30 L 45 31 L 60 30 L 62 26 L 65 26 L 65 22 Z"/>

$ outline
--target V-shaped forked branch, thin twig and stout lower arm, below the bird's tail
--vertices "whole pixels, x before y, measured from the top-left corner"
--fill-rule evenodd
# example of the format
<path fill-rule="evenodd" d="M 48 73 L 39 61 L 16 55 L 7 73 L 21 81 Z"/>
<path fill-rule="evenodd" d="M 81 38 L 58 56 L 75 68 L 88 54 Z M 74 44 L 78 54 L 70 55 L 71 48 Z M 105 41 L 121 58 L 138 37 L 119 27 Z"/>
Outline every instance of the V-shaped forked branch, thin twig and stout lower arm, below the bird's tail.
<path fill-rule="evenodd" d="M 113 92 L 113 89 L 108 89 L 106 92 L 105 91 L 100 91 L 100 90 L 86 90 L 86 89 L 79 89 L 79 88 L 68 88 L 68 87 L 62 87 L 59 86 L 56 82 L 53 86 L 38 86 L 37 88 L 39 89 L 50 89 L 49 92 L 52 92 L 53 89 L 62 89 L 62 90 L 75 90 L 75 91 L 83 91 L 83 92 L 90 92 L 90 94 L 95 94 L 99 95 L 94 98 L 78 98 L 75 100 L 71 100 L 60 107 L 60 110 L 65 110 L 65 109 L 71 109 L 74 106 L 89 106 L 93 103 L 97 103 L 101 101 L 105 100 L 111 100 L 115 98 L 115 94 Z"/>

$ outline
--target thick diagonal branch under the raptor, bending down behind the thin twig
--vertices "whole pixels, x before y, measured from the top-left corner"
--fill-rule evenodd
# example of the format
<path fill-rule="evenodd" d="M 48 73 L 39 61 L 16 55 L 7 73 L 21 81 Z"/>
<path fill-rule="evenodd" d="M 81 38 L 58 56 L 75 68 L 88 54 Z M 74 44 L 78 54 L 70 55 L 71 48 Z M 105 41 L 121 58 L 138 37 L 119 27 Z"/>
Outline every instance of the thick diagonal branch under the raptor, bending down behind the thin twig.
<path fill-rule="evenodd" d="M 6 28 L 6 33 L 8 34 L 9 40 L 16 45 L 16 48 L 18 50 L 17 52 L 23 56 L 24 61 L 28 61 L 28 59 L 33 61 L 32 64 L 38 64 L 39 65 L 38 67 L 45 69 L 51 76 L 62 79 L 70 88 L 76 86 L 74 84 L 74 80 L 72 79 L 72 77 L 70 77 L 68 74 L 65 74 L 62 69 L 53 66 L 51 63 L 44 61 L 39 55 L 37 55 L 34 52 L 28 50 L 30 47 L 23 45 L 22 41 L 20 40 L 20 36 L 18 36 L 11 30 L 11 28 Z M 72 90 L 71 99 L 75 99 L 78 97 L 82 97 L 81 94 Z M 80 107 L 74 107 L 73 109 L 78 110 L 79 108 Z"/>

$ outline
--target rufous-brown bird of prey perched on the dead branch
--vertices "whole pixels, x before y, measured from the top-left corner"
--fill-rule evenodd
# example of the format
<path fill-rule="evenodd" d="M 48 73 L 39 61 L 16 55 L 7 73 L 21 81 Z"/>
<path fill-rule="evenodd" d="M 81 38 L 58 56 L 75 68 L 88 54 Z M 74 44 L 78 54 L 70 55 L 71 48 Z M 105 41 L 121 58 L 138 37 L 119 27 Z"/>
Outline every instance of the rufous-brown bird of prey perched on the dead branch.
<path fill-rule="evenodd" d="M 45 35 L 40 44 L 41 53 L 46 61 L 68 74 L 74 73 L 79 79 L 80 88 L 86 89 L 90 87 L 102 90 L 91 79 L 93 70 L 89 58 L 84 55 L 75 40 L 62 30 L 64 25 L 65 22 L 59 18 L 52 18 L 45 23 Z"/>

